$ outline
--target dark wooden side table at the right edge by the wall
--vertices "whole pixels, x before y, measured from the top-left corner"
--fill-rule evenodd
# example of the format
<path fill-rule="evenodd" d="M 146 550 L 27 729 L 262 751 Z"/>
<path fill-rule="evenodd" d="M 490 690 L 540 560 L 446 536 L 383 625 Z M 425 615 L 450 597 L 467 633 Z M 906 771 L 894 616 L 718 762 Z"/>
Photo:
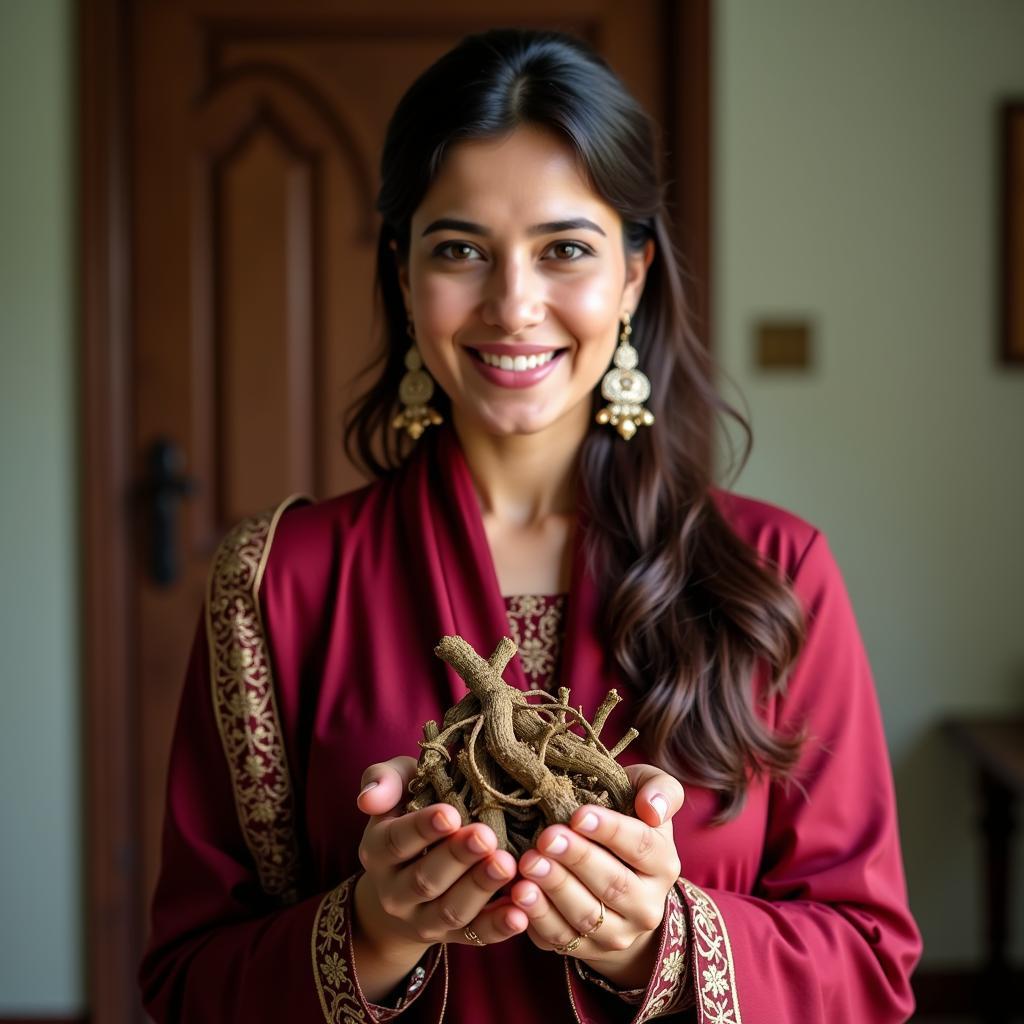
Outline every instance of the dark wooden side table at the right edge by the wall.
<path fill-rule="evenodd" d="M 978 772 L 985 844 L 987 963 L 982 985 L 985 1020 L 1002 1024 L 1014 1012 L 1010 940 L 1010 853 L 1017 800 L 1024 796 L 1024 717 L 955 718 L 948 735 L 967 753 Z"/>

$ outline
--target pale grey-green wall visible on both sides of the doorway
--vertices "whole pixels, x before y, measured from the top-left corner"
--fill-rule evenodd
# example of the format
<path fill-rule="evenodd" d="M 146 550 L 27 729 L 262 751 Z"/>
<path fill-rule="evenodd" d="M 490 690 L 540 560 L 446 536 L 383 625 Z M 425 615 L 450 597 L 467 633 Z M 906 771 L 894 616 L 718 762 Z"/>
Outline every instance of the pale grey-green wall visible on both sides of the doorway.
<path fill-rule="evenodd" d="M 0 0 L 0 1016 L 86 1006 L 73 14 Z M 974 969 L 978 805 L 941 726 L 1024 712 L 1024 366 L 996 354 L 996 112 L 1024 99 L 1024 2 L 719 0 L 713 69 L 715 344 L 756 439 L 736 488 L 829 537 L 923 970 Z M 776 318 L 813 326 L 808 371 L 755 366 Z M 1019 965 L 1019 843 L 1014 866 Z"/>

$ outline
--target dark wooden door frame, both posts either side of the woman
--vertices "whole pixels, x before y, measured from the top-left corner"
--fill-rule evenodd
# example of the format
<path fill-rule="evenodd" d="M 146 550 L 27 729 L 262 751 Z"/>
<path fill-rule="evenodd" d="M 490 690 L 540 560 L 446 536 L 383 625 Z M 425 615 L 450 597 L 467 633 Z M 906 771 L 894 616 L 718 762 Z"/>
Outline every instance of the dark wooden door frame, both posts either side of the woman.
<path fill-rule="evenodd" d="M 711 345 L 713 0 L 662 0 L 670 203 L 697 334 Z M 131 409 L 132 0 L 79 0 L 78 281 L 82 750 L 89 1016 L 139 1019 L 138 545 Z M 683 144 L 685 143 L 685 144 Z"/>

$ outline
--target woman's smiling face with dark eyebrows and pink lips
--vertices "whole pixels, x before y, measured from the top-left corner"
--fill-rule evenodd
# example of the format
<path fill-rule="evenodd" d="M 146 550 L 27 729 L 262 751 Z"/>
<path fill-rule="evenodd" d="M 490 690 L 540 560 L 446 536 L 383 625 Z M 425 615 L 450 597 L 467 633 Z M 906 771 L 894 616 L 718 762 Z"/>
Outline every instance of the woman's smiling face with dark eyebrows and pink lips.
<path fill-rule="evenodd" d="M 550 132 L 454 146 L 413 215 L 399 278 L 460 430 L 557 426 L 582 440 L 652 254 L 627 255 L 622 218 Z"/>

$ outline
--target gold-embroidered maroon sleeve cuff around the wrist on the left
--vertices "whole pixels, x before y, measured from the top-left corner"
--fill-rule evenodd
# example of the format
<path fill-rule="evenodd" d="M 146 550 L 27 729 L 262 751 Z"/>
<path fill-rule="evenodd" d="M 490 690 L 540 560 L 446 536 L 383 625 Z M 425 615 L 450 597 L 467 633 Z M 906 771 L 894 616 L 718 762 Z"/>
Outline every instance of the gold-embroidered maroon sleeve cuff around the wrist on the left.
<path fill-rule="evenodd" d="M 410 972 L 404 991 L 395 1006 L 370 1002 L 359 988 L 352 953 L 351 896 L 358 876 L 346 879 L 321 901 L 313 919 L 311 948 L 313 981 L 327 1024 L 351 1020 L 390 1021 L 404 1013 L 427 990 L 440 967 L 443 979 L 438 1020 L 444 1012 L 447 994 L 447 948 L 437 945 Z"/>

